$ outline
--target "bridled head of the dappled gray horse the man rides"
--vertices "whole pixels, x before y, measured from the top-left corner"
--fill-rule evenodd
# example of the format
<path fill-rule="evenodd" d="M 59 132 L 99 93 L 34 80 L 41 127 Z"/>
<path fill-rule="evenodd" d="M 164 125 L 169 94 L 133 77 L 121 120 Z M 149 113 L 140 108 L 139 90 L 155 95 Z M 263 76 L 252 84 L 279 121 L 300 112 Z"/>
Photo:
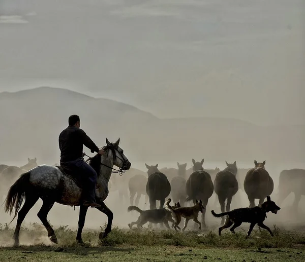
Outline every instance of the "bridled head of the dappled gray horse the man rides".
<path fill-rule="evenodd" d="M 113 158 L 113 165 L 122 170 L 128 170 L 131 167 L 131 163 L 124 155 L 124 151 L 119 147 L 119 138 L 115 143 L 110 143 L 106 138 L 106 146 L 103 147 L 105 153 L 107 152 L 108 158 Z"/>

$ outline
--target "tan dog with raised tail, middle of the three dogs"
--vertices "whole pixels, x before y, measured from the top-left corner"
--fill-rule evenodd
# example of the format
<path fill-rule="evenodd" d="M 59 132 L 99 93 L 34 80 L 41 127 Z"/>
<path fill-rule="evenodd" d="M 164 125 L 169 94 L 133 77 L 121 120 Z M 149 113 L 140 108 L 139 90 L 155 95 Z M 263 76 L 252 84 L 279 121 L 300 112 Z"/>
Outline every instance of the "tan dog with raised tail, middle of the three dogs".
<path fill-rule="evenodd" d="M 174 224 L 174 228 L 177 231 L 177 228 L 179 226 L 179 223 L 181 222 L 181 218 L 184 217 L 186 219 L 185 221 L 185 226 L 182 229 L 182 231 L 185 231 L 185 229 L 188 226 L 188 222 L 190 219 L 193 219 L 194 222 L 199 224 L 199 230 L 201 230 L 201 223 L 198 221 L 198 215 L 199 215 L 199 211 L 202 213 L 204 207 L 202 204 L 202 201 L 200 200 L 198 202 L 198 200 L 196 199 L 196 203 L 194 206 L 192 207 L 178 207 L 176 209 L 173 209 L 169 203 L 171 202 L 171 199 L 169 198 L 165 204 L 164 204 L 164 208 L 170 212 L 172 212 L 173 214 L 173 218 L 175 220 L 175 224 Z"/>

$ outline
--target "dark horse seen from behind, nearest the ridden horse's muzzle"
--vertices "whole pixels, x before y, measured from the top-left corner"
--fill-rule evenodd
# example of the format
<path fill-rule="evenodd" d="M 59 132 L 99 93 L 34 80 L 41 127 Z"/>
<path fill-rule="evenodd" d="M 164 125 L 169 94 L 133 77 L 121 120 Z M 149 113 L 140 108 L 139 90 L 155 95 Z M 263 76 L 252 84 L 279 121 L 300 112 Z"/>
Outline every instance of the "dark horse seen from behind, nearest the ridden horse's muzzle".
<path fill-rule="evenodd" d="M 160 200 L 160 208 L 163 208 L 165 198 L 170 194 L 170 183 L 165 174 L 161 173 L 156 166 L 148 166 L 145 163 L 148 174 L 148 180 L 146 184 L 146 193 L 149 197 L 150 209 L 157 209 L 156 201 Z"/>

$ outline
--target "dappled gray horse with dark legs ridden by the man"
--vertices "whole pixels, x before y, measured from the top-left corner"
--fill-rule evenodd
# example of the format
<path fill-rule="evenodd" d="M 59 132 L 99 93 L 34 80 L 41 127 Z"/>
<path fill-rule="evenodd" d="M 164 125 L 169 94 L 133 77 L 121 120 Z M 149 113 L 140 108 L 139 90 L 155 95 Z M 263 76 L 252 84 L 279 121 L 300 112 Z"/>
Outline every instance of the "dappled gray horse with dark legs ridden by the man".
<path fill-rule="evenodd" d="M 108 181 L 112 173 L 113 165 L 119 167 L 121 170 L 128 170 L 131 167 L 131 163 L 124 155 L 123 149 L 118 146 L 119 139 L 115 143 L 110 143 L 106 138 L 106 143 L 107 145 L 103 147 L 105 154 L 103 156 L 97 154 L 90 159 L 89 162 L 90 166 L 92 166 L 98 174 L 96 201 L 102 207 L 97 209 L 108 217 L 107 227 L 105 232 L 100 233 L 100 239 L 105 238 L 111 231 L 113 213 L 105 205 L 104 200 L 107 198 L 109 193 Z M 50 240 L 56 244 L 57 237 L 47 220 L 47 215 L 54 203 L 57 202 L 62 205 L 80 206 L 76 240 L 78 243 L 83 243 L 81 233 L 84 227 L 88 207 L 80 205 L 81 194 L 82 189 L 77 185 L 77 183 L 73 179 L 65 176 L 58 167 L 40 165 L 22 174 L 11 186 L 5 203 L 5 212 L 10 212 L 10 214 L 12 214 L 15 207 L 14 218 L 18 214 L 17 225 L 14 233 L 14 246 L 19 245 L 19 231 L 22 221 L 39 198 L 42 199 L 43 204 L 37 215 L 47 229 Z M 25 202 L 21 208 L 24 199 Z"/>

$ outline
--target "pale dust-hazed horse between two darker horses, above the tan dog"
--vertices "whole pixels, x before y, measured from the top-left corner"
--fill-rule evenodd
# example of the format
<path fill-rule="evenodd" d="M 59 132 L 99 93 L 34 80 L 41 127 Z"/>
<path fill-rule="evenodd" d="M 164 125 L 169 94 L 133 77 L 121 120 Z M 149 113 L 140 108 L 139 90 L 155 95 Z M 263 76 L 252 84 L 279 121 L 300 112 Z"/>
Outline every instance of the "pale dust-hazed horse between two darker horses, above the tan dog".
<path fill-rule="evenodd" d="M 179 202 L 181 207 L 184 207 L 184 204 L 187 199 L 186 194 L 186 173 L 187 173 L 187 163 L 178 166 L 178 176 L 175 176 L 170 181 L 171 186 L 171 196 L 174 203 Z"/>

